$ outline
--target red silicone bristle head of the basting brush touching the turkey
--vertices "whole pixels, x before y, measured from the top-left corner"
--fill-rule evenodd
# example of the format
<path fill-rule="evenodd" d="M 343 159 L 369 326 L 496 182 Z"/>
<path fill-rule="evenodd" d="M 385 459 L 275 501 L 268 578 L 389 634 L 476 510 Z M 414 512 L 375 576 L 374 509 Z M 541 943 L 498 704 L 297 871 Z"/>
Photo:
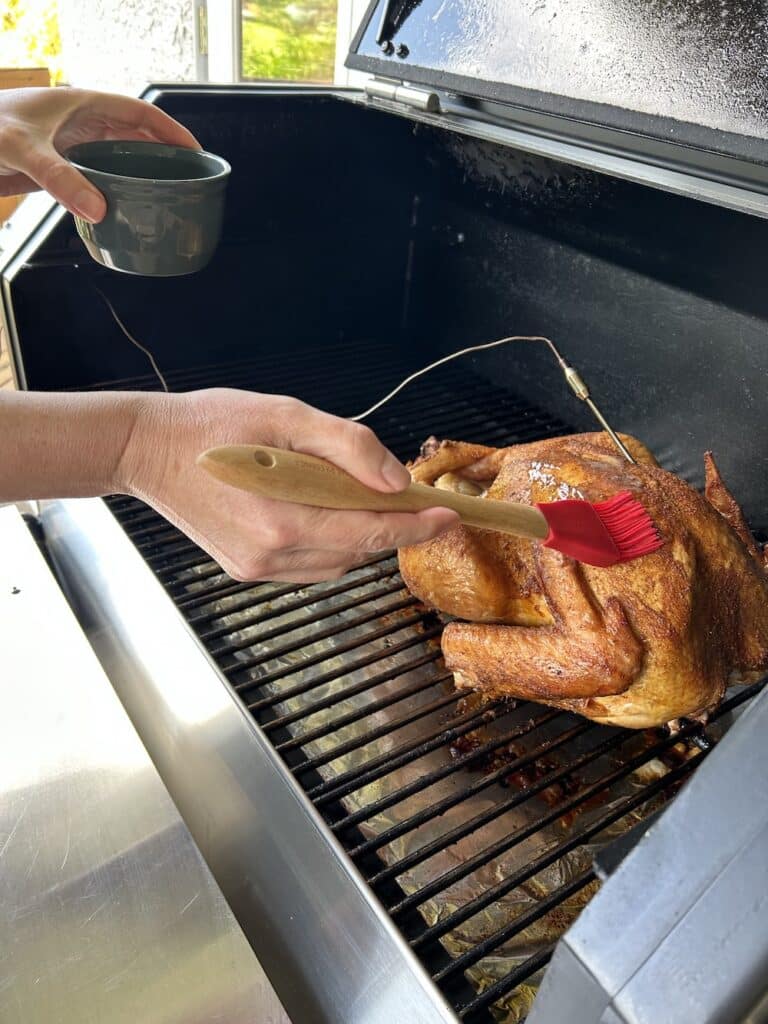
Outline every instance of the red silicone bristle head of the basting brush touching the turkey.
<path fill-rule="evenodd" d="M 544 545 L 587 565 L 605 567 L 658 550 L 664 541 L 629 490 L 591 505 L 575 499 L 537 505 L 549 525 Z"/>

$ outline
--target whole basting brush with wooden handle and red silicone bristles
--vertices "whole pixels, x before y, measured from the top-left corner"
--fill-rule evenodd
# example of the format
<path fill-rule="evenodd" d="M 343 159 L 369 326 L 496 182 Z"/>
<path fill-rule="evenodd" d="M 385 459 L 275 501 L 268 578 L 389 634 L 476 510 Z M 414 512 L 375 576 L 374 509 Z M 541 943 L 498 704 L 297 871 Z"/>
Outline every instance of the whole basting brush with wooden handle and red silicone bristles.
<path fill-rule="evenodd" d="M 594 505 L 566 499 L 536 506 L 474 498 L 424 483 L 384 494 L 323 459 L 255 444 L 210 449 L 199 456 L 198 465 L 242 490 L 314 508 L 371 512 L 450 508 L 467 526 L 540 541 L 588 565 L 615 565 L 650 554 L 664 543 L 629 490 Z"/>

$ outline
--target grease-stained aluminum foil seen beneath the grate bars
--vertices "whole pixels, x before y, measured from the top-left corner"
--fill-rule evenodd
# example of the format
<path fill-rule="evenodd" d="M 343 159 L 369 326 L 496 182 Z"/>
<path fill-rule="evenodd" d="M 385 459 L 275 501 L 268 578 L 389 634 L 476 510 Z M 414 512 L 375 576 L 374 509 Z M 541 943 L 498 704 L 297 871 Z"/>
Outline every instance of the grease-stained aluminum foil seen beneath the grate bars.
<path fill-rule="evenodd" d="M 356 569 L 347 578 L 350 588 L 345 590 L 343 597 L 326 596 L 327 591 L 332 589 L 332 585 L 308 588 L 303 592 L 303 596 L 309 597 L 310 601 L 300 610 L 291 610 L 291 605 L 295 603 L 297 597 L 302 596 L 302 592 L 299 592 L 298 595 L 294 592 L 289 596 L 276 597 L 268 605 L 260 604 L 259 611 L 271 615 L 263 627 L 255 626 L 239 630 L 239 622 L 243 620 L 244 614 L 252 614 L 252 610 L 227 615 L 227 608 L 232 603 L 227 599 L 222 599 L 218 605 L 207 609 L 212 610 L 215 607 L 220 614 L 225 616 L 223 622 L 229 623 L 232 628 L 232 634 L 227 639 L 250 643 L 246 650 L 233 655 L 236 660 L 250 658 L 254 654 L 258 655 L 263 652 L 265 660 L 255 668 L 248 669 L 244 674 L 245 677 L 258 683 L 259 680 L 263 680 L 265 676 L 275 670 L 283 670 L 286 673 L 281 679 L 260 685 L 258 690 L 252 691 L 254 698 L 261 698 L 266 694 L 276 696 L 281 692 L 285 692 L 288 687 L 307 682 L 321 675 L 334 673 L 334 677 L 328 682 L 279 702 L 274 708 L 279 714 L 303 711 L 332 694 L 340 694 L 358 683 L 371 681 L 370 689 L 364 689 L 362 692 L 344 698 L 328 709 L 318 710 L 289 726 L 292 735 L 301 737 L 323 727 L 331 727 L 342 716 L 365 709 L 374 701 L 380 701 L 388 696 L 396 697 L 403 690 L 420 681 L 437 680 L 440 676 L 446 675 L 439 657 L 438 641 L 424 638 L 424 622 L 407 625 L 408 617 L 413 616 L 419 610 L 416 602 L 406 608 L 391 610 L 393 604 L 409 598 L 404 587 L 398 588 L 395 592 L 386 593 L 399 582 L 394 559 L 375 568 L 381 569 L 382 567 L 390 567 L 391 573 L 383 580 L 368 584 L 362 583 L 362 581 L 374 571 L 374 567 Z M 354 585 L 356 581 L 360 581 L 357 586 Z M 263 588 L 255 589 L 254 595 L 256 594 L 262 597 Z M 356 596 L 368 596 L 369 599 L 357 607 L 341 612 L 335 610 L 341 601 L 347 602 Z M 286 611 L 282 613 L 284 607 Z M 357 620 L 373 611 L 376 612 L 375 617 L 362 625 L 355 625 Z M 298 625 L 302 622 L 304 625 Z M 219 624 L 217 621 L 216 625 Z M 386 625 L 389 625 L 392 630 L 388 636 L 376 640 L 370 639 L 373 631 Z M 280 637 L 259 641 L 259 635 L 265 629 L 271 632 L 280 627 L 285 627 L 285 632 Z M 339 631 L 333 636 L 318 638 L 318 633 L 329 627 L 336 627 Z M 416 641 L 415 644 L 406 650 L 388 653 L 392 646 L 408 639 Z M 355 644 L 354 649 L 340 652 L 340 646 L 351 643 Z M 283 654 L 278 653 L 274 656 L 273 652 L 280 651 L 281 647 L 287 649 Z M 291 649 L 288 649 L 289 647 Z M 434 655 L 434 660 L 416 669 L 408 668 L 417 657 L 430 652 Z M 354 668 L 356 660 L 371 654 L 377 655 L 374 664 Z M 317 658 L 315 664 L 311 667 L 305 667 L 307 659 L 313 658 Z M 392 673 L 394 678 L 377 683 L 375 677 L 386 672 Z M 403 717 L 428 707 L 438 697 L 450 694 L 452 691 L 453 684 L 450 680 L 436 682 L 432 687 L 397 700 L 389 707 L 374 711 L 357 721 L 333 729 L 327 735 L 307 739 L 306 743 L 302 744 L 301 750 L 308 757 L 328 757 L 341 743 L 358 742 L 359 745 L 355 745 L 350 752 L 329 760 L 327 764 L 319 767 L 318 770 L 324 780 L 335 779 L 342 773 L 365 765 L 373 758 L 390 753 L 409 740 L 424 738 L 440 728 L 447 727 L 453 718 L 466 713 L 468 708 L 466 697 L 457 699 L 456 703 L 452 703 L 447 709 L 430 713 L 411 724 L 395 728 L 393 731 L 387 731 L 378 738 L 369 738 L 373 730 L 392 726 Z M 248 692 L 244 692 L 246 701 L 248 696 Z M 469 707 L 471 707 L 472 700 L 477 701 L 478 699 L 470 697 Z M 461 749 L 466 752 L 472 748 L 473 743 L 482 743 L 495 736 L 501 736 L 515 726 L 522 726 L 531 719 L 531 716 L 538 717 L 542 713 L 543 709 L 537 709 L 529 703 L 522 705 L 502 720 L 485 724 L 477 732 L 465 737 L 461 742 Z M 546 737 L 558 735 L 578 721 L 580 720 L 572 716 L 560 715 L 550 724 L 536 728 L 528 736 L 515 740 L 513 748 L 506 751 L 506 755 L 511 760 L 515 755 L 524 754 L 534 745 L 541 744 Z M 601 730 L 594 726 L 578 739 L 548 754 L 544 762 L 535 766 L 532 770 L 544 773 L 552 768 L 560 767 L 579 754 L 594 746 L 598 737 L 604 738 L 606 735 L 608 735 L 607 730 Z M 397 879 L 402 891 L 407 895 L 417 892 L 434 880 L 440 879 L 451 869 L 465 864 L 469 858 L 479 852 L 492 846 L 503 844 L 518 829 L 530 825 L 545 814 L 549 814 L 553 807 L 557 806 L 559 800 L 567 799 L 569 793 L 583 788 L 612 768 L 617 767 L 622 763 L 620 759 L 628 759 L 631 753 L 638 753 L 643 743 L 647 742 L 649 742 L 647 736 L 637 734 L 636 738 L 623 744 L 621 750 L 598 759 L 597 762 L 577 772 L 574 777 L 569 779 L 568 784 L 571 788 L 567 792 L 553 788 L 546 791 L 544 795 L 530 797 L 519 806 L 507 810 L 447 849 L 441 850 L 424 862 L 403 871 Z M 349 812 L 354 812 L 383 798 L 397 795 L 404 786 L 453 763 L 456 756 L 456 751 L 440 748 L 345 797 L 344 806 Z M 483 777 L 483 768 L 486 768 L 483 764 L 462 768 L 416 795 L 398 800 L 392 807 L 365 820 L 359 825 L 361 833 L 367 839 L 376 838 L 411 815 L 426 810 L 436 801 L 457 793 L 466 792 L 469 786 Z M 478 867 L 454 884 L 446 885 L 436 895 L 420 905 L 419 910 L 425 922 L 427 925 L 433 925 L 442 921 L 457 908 L 486 892 L 492 886 L 503 882 L 513 872 L 524 868 L 537 857 L 561 844 L 572 834 L 573 829 L 582 830 L 587 827 L 597 816 L 609 812 L 621 800 L 638 792 L 652 777 L 664 774 L 667 770 L 668 767 L 658 761 L 651 763 L 642 771 L 636 772 L 611 786 L 600 798 L 589 802 L 575 815 L 566 814 L 558 817 L 551 824 L 538 829 L 524 842 L 495 856 L 487 864 Z M 383 862 L 391 864 L 409 856 L 425 844 L 439 839 L 475 815 L 507 802 L 511 793 L 521 786 L 524 787 L 524 785 L 525 779 L 517 776 L 507 780 L 506 785 L 499 783 L 489 785 L 441 816 L 430 819 L 419 828 L 407 833 L 381 848 L 380 856 Z M 625 815 L 609 829 L 597 836 L 590 844 L 559 857 L 551 866 L 504 894 L 490 906 L 475 913 L 464 924 L 449 932 L 441 940 L 449 954 L 457 956 L 471 949 L 479 941 L 508 926 L 520 913 L 535 907 L 539 901 L 559 887 L 578 878 L 590 868 L 597 849 L 657 806 L 658 801 L 651 801 L 646 803 L 640 811 Z M 593 882 L 577 892 L 575 895 L 531 924 L 519 935 L 496 948 L 493 955 L 486 956 L 472 967 L 467 972 L 466 977 L 473 987 L 477 991 L 484 990 L 528 956 L 554 943 L 575 920 L 582 907 L 595 892 L 596 887 L 597 883 Z M 495 1005 L 493 1015 L 497 1021 L 504 1022 L 504 1024 L 516 1024 L 524 1019 L 541 980 L 540 975 L 528 979 L 523 985 Z"/>

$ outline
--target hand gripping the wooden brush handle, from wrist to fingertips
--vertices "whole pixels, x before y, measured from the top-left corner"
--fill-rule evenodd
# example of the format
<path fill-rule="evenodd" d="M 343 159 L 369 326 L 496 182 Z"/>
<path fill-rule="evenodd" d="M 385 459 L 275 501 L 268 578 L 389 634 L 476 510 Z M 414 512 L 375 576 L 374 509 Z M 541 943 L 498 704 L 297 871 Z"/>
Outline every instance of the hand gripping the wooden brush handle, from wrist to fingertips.
<path fill-rule="evenodd" d="M 118 485 L 170 519 L 236 580 L 335 580 L 371 552 L 420 544 L 459 521 L 443 508 L 342 512 L 259 498 L 196 465 L 201 453 L 219 444 L 318 456 L 377 490 L 401 490 L 411 477 L 368 427 L 295 398 L 225 388 L 146 395 Z"/>

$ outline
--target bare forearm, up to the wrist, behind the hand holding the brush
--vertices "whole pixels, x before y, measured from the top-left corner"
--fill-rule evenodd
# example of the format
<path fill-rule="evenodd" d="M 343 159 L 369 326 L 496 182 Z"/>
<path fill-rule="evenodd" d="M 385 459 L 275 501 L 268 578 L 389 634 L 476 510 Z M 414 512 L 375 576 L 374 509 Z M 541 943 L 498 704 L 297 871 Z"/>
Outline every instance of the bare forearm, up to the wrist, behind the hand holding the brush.
<path fill-rule="evenodd" d="M 157 396 L 156 396 L 157 397 Z M 140 392 L 0 394 L 0 502 L 120 490 Z"/>

